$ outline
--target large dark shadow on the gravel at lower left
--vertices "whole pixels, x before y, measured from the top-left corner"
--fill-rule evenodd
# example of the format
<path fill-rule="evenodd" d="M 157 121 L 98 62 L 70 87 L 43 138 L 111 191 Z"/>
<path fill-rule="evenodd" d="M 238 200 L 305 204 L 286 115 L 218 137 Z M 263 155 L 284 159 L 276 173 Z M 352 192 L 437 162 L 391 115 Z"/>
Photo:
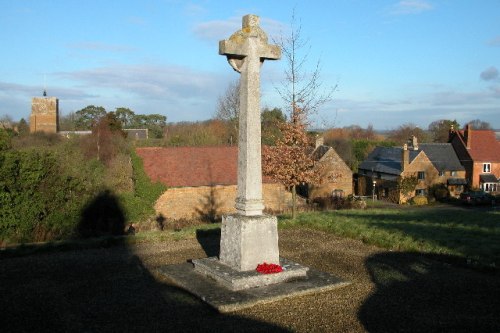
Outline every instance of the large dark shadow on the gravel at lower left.
<path fill-rule="evenodd" d="M 216 250 L 212 233 L 217 231 L 199 233 L 208 253 Z M 113 240 L 104 247 L 0 253 L 2 332 L 287 332 L 217 313 L 155 278 L 154 267 L 143 264 L 136 248 L 120 237 Z M 166 257 L 189 255 L 171 251 Z"/>

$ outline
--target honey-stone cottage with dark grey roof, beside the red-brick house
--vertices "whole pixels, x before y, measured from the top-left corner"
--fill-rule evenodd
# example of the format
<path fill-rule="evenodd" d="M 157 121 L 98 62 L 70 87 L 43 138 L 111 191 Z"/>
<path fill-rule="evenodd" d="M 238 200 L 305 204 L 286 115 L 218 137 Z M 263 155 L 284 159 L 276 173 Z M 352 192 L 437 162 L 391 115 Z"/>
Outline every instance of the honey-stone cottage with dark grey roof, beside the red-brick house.
<path fill-rule="evenodd" d="M 415 190 L 398 190 L 398 181 L 416 177 Z M 405 203 L 415 195 L 428 195 L 433 185 L 446 187 L 453 197 L 464 190 L 465 168 L 449 143 L 418 144 L 415 137 L 403 147 L 376 147 L 358 168 L 357 191 L 361 195 Z"/>

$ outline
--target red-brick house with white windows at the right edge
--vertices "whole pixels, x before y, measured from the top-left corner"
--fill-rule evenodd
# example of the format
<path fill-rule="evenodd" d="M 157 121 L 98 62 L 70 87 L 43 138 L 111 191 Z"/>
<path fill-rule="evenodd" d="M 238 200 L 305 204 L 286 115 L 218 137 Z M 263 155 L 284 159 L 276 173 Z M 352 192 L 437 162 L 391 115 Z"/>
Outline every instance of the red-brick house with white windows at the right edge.
<path fill-rule="evenodd" d="M 450 130 L 449 142 L 465 167 L 468 187 L 500 193 L 500 142 L 493 130 Z"/>

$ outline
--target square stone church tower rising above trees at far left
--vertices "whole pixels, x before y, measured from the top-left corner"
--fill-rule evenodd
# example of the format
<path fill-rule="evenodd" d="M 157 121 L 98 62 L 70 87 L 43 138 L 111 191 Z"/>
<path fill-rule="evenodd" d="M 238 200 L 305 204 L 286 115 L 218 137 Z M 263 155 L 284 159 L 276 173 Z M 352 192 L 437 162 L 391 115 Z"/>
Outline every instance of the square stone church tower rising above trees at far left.
<path fill-rule="evenodd" d="M 31 100 L 30 132 L 57 133 L 59 130 L 59 100 L 47 97 L 33 97 Z"/>

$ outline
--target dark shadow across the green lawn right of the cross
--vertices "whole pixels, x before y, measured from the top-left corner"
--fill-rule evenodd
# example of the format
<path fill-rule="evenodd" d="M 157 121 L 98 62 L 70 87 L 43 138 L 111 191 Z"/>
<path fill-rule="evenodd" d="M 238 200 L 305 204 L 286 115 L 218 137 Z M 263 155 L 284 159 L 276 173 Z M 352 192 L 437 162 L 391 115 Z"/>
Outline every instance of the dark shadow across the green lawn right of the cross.
<path fill-rule="evenodd" d="M 450 253 L 461 254 L 464 262 L 466 258 L 484 266 L 500 262 L 500 215 L 491 210 L 435 207 L 336 214 L 371 230 L 410 236 L 417 242 L 448 249 Z"/>

